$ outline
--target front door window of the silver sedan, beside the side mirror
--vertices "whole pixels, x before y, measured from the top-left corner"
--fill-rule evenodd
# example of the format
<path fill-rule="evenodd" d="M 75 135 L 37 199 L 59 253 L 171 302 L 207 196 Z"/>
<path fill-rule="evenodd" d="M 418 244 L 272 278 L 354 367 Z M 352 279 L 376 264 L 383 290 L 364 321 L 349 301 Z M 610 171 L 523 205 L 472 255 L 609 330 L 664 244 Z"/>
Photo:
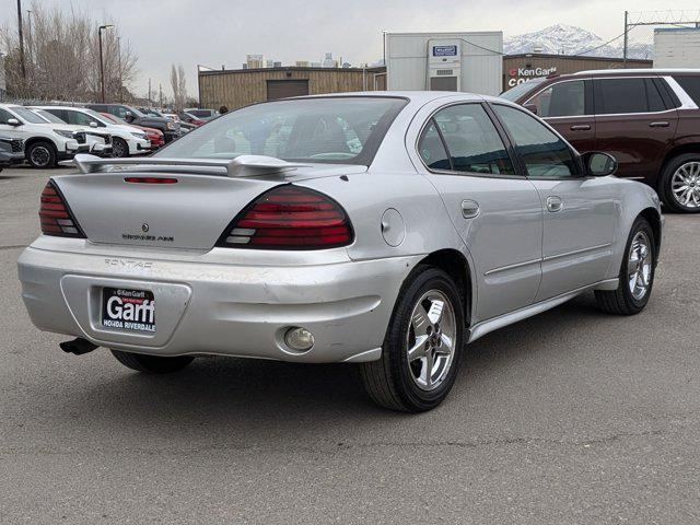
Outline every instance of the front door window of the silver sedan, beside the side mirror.
<path fill-rule="evenodd" d="M 501 104 L 493 109 L 508 128 L 527 174 L 537 178 L 578 176 L 574 155 L 557 133 L 524 110 Z"/>

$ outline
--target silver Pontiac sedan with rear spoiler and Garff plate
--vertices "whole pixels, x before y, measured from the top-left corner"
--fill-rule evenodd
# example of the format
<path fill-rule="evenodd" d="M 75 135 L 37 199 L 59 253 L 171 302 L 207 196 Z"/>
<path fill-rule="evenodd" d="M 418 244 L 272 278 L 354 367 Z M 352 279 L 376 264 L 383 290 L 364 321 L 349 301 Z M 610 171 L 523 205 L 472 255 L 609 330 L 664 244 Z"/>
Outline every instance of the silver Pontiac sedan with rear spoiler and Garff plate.
<path fill-rule="evenodd" d="M 40 199 L 22 296 L 63 350 L 173 372 L 197 355 L 359 363 L 421 411 L 464 346 L 595 291 L 649 301 L 655 192 L 537 117 L 469 94 L 253 105 L 149 159 L 75 159 Z"/>

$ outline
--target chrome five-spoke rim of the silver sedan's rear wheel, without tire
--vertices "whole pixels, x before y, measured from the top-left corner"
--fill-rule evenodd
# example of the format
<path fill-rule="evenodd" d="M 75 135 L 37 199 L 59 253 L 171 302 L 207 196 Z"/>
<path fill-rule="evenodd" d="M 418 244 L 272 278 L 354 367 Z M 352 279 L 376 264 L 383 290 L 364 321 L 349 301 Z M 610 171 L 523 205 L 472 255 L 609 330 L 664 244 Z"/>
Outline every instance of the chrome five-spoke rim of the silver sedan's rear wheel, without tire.
<path fill-rule="evenodd" d="M 447 296 L 425 292 L 413 306 L 406 336 L 408 366 L 413 382 L 424 390 L 438 388 L 452 366 L 457 326 Z"/>

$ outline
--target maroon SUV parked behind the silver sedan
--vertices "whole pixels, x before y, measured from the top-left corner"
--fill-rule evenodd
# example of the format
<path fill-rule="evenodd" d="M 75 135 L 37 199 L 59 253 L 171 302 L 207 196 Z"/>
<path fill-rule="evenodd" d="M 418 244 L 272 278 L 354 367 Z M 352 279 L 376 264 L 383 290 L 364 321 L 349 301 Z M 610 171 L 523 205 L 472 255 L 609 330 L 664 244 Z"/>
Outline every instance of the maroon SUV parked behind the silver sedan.
<path fill-rule="evenodd" d="M 700 212 L 700 70 L 583 71 L 502 93 L 580 151 L 605 151 L 618 176 L 656 188 L 665 206 Z"/>

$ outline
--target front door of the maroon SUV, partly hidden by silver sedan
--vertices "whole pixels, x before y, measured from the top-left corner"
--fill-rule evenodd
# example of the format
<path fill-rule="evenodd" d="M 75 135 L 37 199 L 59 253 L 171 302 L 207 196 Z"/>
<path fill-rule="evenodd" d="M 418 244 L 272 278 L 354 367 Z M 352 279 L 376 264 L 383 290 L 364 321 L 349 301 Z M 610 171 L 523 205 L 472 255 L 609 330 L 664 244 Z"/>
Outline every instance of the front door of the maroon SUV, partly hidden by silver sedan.
<path fill-rule="evenodd" d="M 537 116 L 559 131 L 580 152 L 595 148 L 593 85 L 588 79 L 567 79 L 549 84 L 526 103 Z"/>

